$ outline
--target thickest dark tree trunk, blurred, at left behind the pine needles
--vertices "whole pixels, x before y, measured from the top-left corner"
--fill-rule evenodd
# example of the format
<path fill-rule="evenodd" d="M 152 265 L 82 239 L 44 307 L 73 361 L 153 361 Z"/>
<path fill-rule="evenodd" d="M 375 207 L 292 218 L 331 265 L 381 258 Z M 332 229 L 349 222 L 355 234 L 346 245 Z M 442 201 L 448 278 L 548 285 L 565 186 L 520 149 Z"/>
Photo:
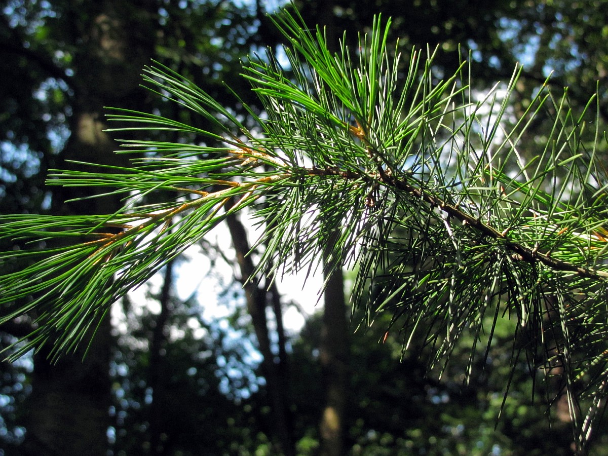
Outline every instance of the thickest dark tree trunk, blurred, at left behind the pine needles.
<path fill-rule="evenodd" d="M 108 128 L 103 106 L 142 107 L 138 81 L 153 51 L 154 35 L 145 28 L 153 16 L 142 8 L 146 2 L 67 4 L 61 14 L 73 39 L 74 76 L 70 82 L 74 102 L 71 136 L 56 165 L 76 168 L 64 163 L 66 159 L 125 165 L 126 158 L 112 153 L 116 143 L 103 132 Z M 83 23 L 83 18 L 90 19 Z M 54 189 L 52 210 L 63 215 L 112 213 L 122 206 L 117 197 L 64 203 L 91 193 L 91 188 Z M 81 353 L 64 355 L 57 365 L 49 364 L 45 350 L 34 358 L 32 395 L 24 419 L 23 447 L 28 455 L 106 455 L 111 406 L 109 315 L 98 325 L 84 361 L 86 341 L 81 345 Z"/>

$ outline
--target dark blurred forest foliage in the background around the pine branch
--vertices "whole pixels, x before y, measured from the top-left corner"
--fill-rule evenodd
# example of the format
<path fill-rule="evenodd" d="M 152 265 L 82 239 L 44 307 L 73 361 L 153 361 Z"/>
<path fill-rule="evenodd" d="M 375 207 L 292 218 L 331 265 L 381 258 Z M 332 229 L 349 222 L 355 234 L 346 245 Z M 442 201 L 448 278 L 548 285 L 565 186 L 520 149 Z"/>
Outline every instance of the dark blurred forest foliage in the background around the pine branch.
<path fill-rule="evenodd" d="M 515 115 L 552 72 L 551 84 L 569 86 L 575 105 L 584 106 L 598 89 L 595 121 L 608 121 L 606 1 L 296 4 L 308 24 L 328 27 L 330 39 L 347 30 L 347 40 L 354 41 L 373 15 L 392 16 L 392 38 L 399 38 L 406 54 L 412 46 L 440 47 L 438 77 L 455 70 L 459 52 L 470 52 L 480 91 L 508 80 L 519 61 L 523 78 L 512 100 Z M 111 198 L 96 203 L 103 207 L 65 205 L 86 195 L 52 190 L 44 177 L 49 168 L 66 167 L 66 159 L 123 160 L 112 154 L 116 146 L 103 133 L 103 106 L 201 122 L 139 87 L 140 70 L 151 58 L 246 121 L 227 86 L 255 107 L 241 64 L 266 47 L 281 55 L 281 37 L 266 16 L 280 7 L 262 0 L 0 0 L 0 212 L 107 212 L 120 206 Z M 542 144 L 543 128 L 541 119 L 523 154 Z M 232 258 L 212 243 L 199 247 L 212 265 Z M 299 332 L 289 331 L 280 324 L 280 306 L 271 311 L 268 305 L 260 328 L 235 274 L 218 282 L 218 299 L 230 314 L 203 317 L 208 296 L 178 297 L 179 268 L 188 264 L 187 258 L 180 261 L 150 285 L 147 305 L 130 297 L 117 303 L 121 324 L 112 328 L 108 320 L 100 327 L 84 363 L 75 357 L 52 366 L 44 353 L 2 362 L 0 455 L 330 454 L 319 431 L 326 405 L 320 314 L 307 316 Z M 288 305 L 283 299 L 282 308 Z M 437 373 L 426 375 L 424 351 L 420 357 L 402 353 L 398 334 L 385 335 L 388 321 L 354 333 L 357 316 L 353 322 L 341 387 L 347 399 L 340 429 L 345 453 L 572 454 L 566 404 L 554 396 L 559 380 L 544 382 L 539 373 L 534 381 L 525 362 L 511 376 L 505 360 L 512 356 L 513 323 L 507 319 L 499 323 L 488 358 L 484 344 L 477 344 L 468 385 L 463 377 L 471 341 L 463 341 L 438 379 Z M 31 325 L 22 319 L 1 326 L 2 347 Z M 260 334 L 270 341 L 265 353 Z M 279 379 L 280 391 L 269 375 Z M 603 429 L 593 454 L 608 454 Z"/>

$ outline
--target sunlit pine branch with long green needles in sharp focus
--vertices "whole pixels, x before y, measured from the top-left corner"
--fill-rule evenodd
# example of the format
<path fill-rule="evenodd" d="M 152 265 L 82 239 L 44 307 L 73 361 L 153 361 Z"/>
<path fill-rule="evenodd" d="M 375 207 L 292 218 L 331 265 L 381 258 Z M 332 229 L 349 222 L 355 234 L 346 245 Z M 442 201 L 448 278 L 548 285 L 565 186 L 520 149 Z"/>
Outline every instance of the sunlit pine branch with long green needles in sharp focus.
<path fill-rule="evenodd" d="M 2 216 L 0 237 L 21 247 L 0 256 L 0 322 L 29 316 L 36 328 L 12 358 L 47 343 L 55 357 L 75 350 L 112 302 L 247 208 L 264 227 L 260 271 L 309 273 L 320 252 L 330 269 L 355 268 L 365 323 L 392 313 L 404 348 L 432 348 L 431 367 L 462 334 L 489 350 L 497 320 L 515 320 L 511 362 L 523 355 L 532 373 L 563 375 L 584 451 L 608 395 L 606 141 L 598 130 L 587 140 L 599 122 L 584 121 L 598 115 L 594 100 L 576 113 L 567 91 L 545 85 L 513 119 L 518 71 L 478 97 L 465 61 L 444 79 L 434 52 L 403 61 L 387 43 L 390 20 L 337 54 L 297 12 L 277 27 L 290 71 L 271 55 L 244 67 L 264 106 L 248 109 L 255 129 L 179 74 L 148 67 L 148 88 L 213 131 L 112 109 L 114 131 L 196 140 L 123 140 L 130 168 L 49 176 L 123 195 L 117 213 Z M 530 157 L 523 138 L 540 114 L 553 128 Z"/>

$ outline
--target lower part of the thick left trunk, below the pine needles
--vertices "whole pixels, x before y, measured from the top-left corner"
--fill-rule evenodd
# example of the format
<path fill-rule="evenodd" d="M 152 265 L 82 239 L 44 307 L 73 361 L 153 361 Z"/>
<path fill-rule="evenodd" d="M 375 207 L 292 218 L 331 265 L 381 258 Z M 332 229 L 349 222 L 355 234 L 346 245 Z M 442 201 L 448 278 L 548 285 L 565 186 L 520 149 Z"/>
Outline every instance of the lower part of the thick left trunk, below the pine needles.
<path fill-rule="evenodd" d="M 27 401 L 24 454 L 106 454 L 111 344 L 109 319 L 104 319 L 84 361 L 84 350 L 61 358 L 57 364 L 49 364 L 46 350 L 36 354 L 32 395 Z"/>

